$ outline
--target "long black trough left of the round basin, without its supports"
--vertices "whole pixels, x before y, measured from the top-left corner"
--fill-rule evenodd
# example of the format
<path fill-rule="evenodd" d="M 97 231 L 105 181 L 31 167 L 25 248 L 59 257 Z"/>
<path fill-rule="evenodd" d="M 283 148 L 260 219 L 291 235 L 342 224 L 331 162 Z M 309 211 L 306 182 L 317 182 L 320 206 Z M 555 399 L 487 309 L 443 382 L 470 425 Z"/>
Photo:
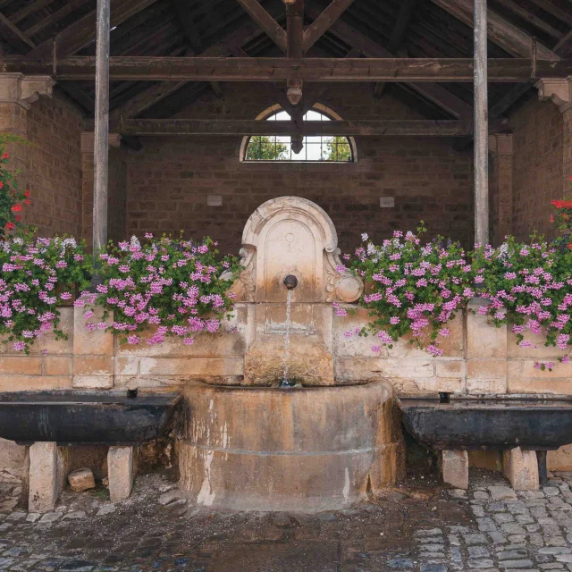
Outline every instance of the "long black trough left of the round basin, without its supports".
<path fill-rule="evenodd" d="M 0 393 L 0 437 L 19 443 L 130 444 L 167 429 L 180 394 L 139 391 Z"/>

